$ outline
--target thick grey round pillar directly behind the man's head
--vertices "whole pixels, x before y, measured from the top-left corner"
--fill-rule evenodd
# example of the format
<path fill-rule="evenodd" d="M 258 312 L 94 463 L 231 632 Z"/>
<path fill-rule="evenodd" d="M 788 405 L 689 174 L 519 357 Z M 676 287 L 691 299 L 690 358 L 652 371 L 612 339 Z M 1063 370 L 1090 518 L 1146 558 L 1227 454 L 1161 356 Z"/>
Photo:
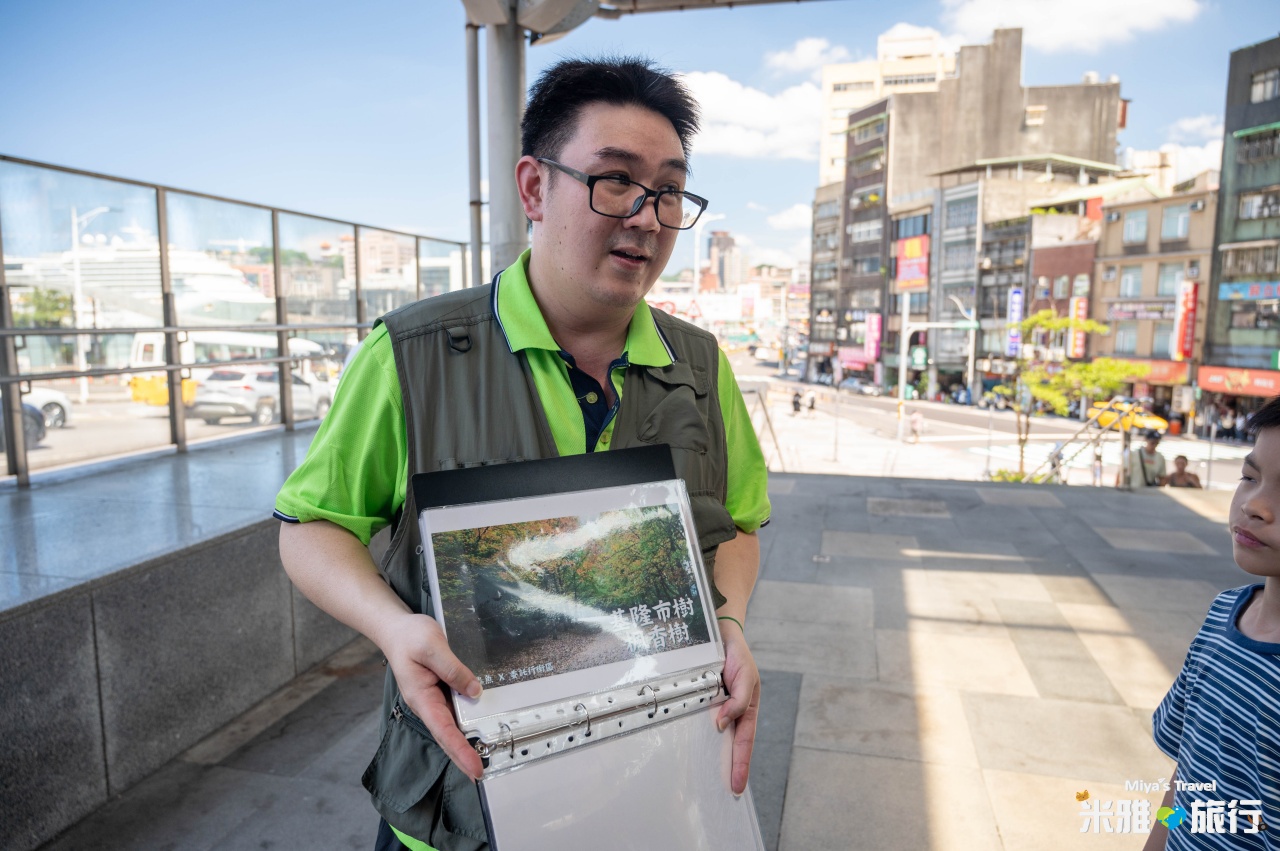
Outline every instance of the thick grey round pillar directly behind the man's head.
<path fill-rule="evenodd" d="M 515 17 L 512 10 L 512 20 Z M 485 54 L 489 74 L 489 267 L 499 271 L 529 247 L 527 220 L 515 178 L 520 119 L 525 114 L 525 29 L 518 23 L 489 24 L 485 27 Z"/>

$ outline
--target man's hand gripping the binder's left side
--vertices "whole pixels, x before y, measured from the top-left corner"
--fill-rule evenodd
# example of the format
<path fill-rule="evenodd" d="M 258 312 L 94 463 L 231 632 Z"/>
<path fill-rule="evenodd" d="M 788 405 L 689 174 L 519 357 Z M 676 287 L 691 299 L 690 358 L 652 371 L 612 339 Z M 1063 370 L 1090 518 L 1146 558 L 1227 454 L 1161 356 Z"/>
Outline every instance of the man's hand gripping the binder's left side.
<path fill-rule="evenodd" d="M 406 612 L 388 624 L 384 635 L 394 636 L 384 640 L 384 651 L 404 704 L 422 719 L 453 764 L 471 779 L 480 779 L 484 764 L 453 720 L 442 687 L 449 686 L 475 699 L 480 696 L 480 681 L 449 650 L 435 618 Z"/>

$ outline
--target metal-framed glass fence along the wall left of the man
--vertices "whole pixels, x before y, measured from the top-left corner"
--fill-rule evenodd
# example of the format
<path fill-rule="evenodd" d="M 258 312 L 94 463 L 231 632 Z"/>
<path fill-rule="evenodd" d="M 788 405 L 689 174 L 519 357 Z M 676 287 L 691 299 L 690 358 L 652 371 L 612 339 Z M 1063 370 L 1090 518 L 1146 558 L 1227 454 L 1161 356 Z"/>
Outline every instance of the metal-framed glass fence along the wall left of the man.
<path fill-rule="evenodd" d="M 467 246 L 0 156 L 0 473 L 324 416 Z"/>

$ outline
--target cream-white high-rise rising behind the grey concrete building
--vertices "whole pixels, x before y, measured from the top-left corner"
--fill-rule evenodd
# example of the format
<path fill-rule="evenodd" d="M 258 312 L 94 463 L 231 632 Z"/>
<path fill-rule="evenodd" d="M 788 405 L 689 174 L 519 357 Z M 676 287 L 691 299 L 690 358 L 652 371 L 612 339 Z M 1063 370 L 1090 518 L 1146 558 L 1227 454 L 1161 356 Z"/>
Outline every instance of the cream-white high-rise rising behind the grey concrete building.
<path fill-rule="evenodd" d="M 908 28 L 876 41 L 876 59 L 822 68 L 823 134 L 818 186 L 845 178 L 849 114 L 892 92 L 937 91 L 956 70 L 956 55 L 932 31 Z"/>

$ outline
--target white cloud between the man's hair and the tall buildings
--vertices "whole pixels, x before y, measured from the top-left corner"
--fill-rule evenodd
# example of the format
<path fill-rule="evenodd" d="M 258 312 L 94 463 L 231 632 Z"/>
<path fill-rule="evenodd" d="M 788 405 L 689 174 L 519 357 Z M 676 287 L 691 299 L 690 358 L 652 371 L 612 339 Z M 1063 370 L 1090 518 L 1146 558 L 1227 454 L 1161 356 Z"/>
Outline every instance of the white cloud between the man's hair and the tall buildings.
<path fill-rule="evenodd" d="M 703 129 L 694 143 L 699 154 L 818 159 L 822 92 L 813 83 L 769 95 L 719 72 L 691 72 L 684 79 L 703 106 Z"/>

